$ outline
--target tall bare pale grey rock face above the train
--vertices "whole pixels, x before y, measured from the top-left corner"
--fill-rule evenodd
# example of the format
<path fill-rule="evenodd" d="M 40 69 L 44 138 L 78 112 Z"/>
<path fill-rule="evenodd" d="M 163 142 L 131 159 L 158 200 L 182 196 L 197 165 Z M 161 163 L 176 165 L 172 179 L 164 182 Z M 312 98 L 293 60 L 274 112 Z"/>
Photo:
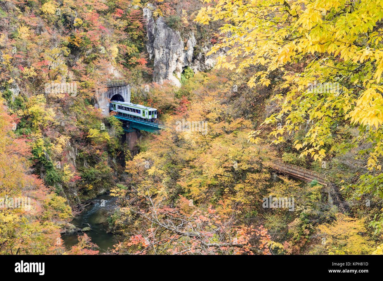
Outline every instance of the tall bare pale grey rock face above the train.
<path fill-rule="evenodd" d="M 154 57 L 153 81 L 162 84 L 170 80 L 180 87 L 182 70 L 192 63 L 194 34 L 191 32 L 184 43 L 180 32 L 170 28 L 162 16 L 154 21 L 150 8 L 144 8 L 143 14 L 147 22 L 147 51 L 150 59 Z"/>

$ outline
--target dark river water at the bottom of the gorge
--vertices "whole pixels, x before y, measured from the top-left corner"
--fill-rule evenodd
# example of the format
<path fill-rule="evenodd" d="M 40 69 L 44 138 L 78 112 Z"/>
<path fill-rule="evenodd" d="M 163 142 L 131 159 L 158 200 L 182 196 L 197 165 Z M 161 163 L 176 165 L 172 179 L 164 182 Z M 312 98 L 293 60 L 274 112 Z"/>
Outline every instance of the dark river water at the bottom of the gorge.
<path fill-rule="evenodd" d="M 118 236 L 106 232 L 108 230 L 107 213 L 116 208 L 116 197 L 104 194 L 96 197 L 93 201 L 95 204 L 87 206 L 70 223 L 80 229 L 90 226 L 92 230 L 85 233 L 92 239 L 92 243 L 97 244 L 100 253 L 103 253 L 108 249 L 113 249 L 113 245 L 117 244 L 119 240 Z M 67 249 L 70 249 L 78 242 L 78 235 L 81 236 L 83 233 L 62 234 L 61 238 L 64 240 Z"/>

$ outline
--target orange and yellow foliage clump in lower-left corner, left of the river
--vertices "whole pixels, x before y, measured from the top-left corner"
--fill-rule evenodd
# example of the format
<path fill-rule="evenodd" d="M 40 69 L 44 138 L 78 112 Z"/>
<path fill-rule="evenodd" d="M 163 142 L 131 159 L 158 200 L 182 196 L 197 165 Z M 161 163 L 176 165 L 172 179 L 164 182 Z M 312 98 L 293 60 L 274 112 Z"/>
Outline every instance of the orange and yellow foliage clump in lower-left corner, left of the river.
<path fill-rule="evenodd" d="M 31 173 L 28 140 L 16 138 L 16 122 L 0 101 L 0 197 L 5 200 L 0 208 L 0 252 L 60 253 L 60 225 L 71 218 L 70 207 Z M 14 206 L 15 198 L 29 200 Z"/>

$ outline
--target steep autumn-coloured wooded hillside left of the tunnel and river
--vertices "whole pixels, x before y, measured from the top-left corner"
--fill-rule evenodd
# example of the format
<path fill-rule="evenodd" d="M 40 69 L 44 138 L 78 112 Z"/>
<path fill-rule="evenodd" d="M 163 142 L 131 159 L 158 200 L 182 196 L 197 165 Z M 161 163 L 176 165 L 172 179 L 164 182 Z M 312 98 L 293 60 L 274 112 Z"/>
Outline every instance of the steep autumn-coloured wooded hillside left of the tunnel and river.
<path fill-rule="evenodd" d="M 71 206 L 76 211 L 80 198 L 114 183 L 108 157 L 125 149 L 118 139 L 122 127 L 95 109 L 94 88 L 113 76 L 111 68 L 132 77 L 147 71 L 142 13 L 129 4 L 0 5 L 0 121 L 7 129 L 0 136 L 0 162 L 11 164 L 0 186 L 2 195 L 30 196 L 33 205 L 32 212 L 1 210 L 7 222 L 1 227 L 2 253 L 64 253 L 59 237 L 72 218 Z M 77 91 L 51 89 L 63 83 Z M 97 253 L 87 250 L 89 241 L 84 237 L 68 253 Z"/>

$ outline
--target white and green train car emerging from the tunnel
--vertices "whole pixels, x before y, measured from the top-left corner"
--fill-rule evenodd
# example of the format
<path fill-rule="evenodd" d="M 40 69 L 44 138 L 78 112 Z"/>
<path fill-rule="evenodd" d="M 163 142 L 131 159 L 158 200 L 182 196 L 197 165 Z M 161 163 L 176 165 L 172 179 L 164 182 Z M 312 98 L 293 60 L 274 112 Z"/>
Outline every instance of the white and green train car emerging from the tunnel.
<path fill-rule="evenodd" d="M 132 104 L 131 102 L 123 101 L 111 101 L 110 110 L 117 112 L 123 117 L 139 117 L 140 119 L 147 119 L 148 121 L 154 121 L 157 119 L 157 109 L 141 104 Z M 129 116 L 130 115 L 130 116 Z"/>

